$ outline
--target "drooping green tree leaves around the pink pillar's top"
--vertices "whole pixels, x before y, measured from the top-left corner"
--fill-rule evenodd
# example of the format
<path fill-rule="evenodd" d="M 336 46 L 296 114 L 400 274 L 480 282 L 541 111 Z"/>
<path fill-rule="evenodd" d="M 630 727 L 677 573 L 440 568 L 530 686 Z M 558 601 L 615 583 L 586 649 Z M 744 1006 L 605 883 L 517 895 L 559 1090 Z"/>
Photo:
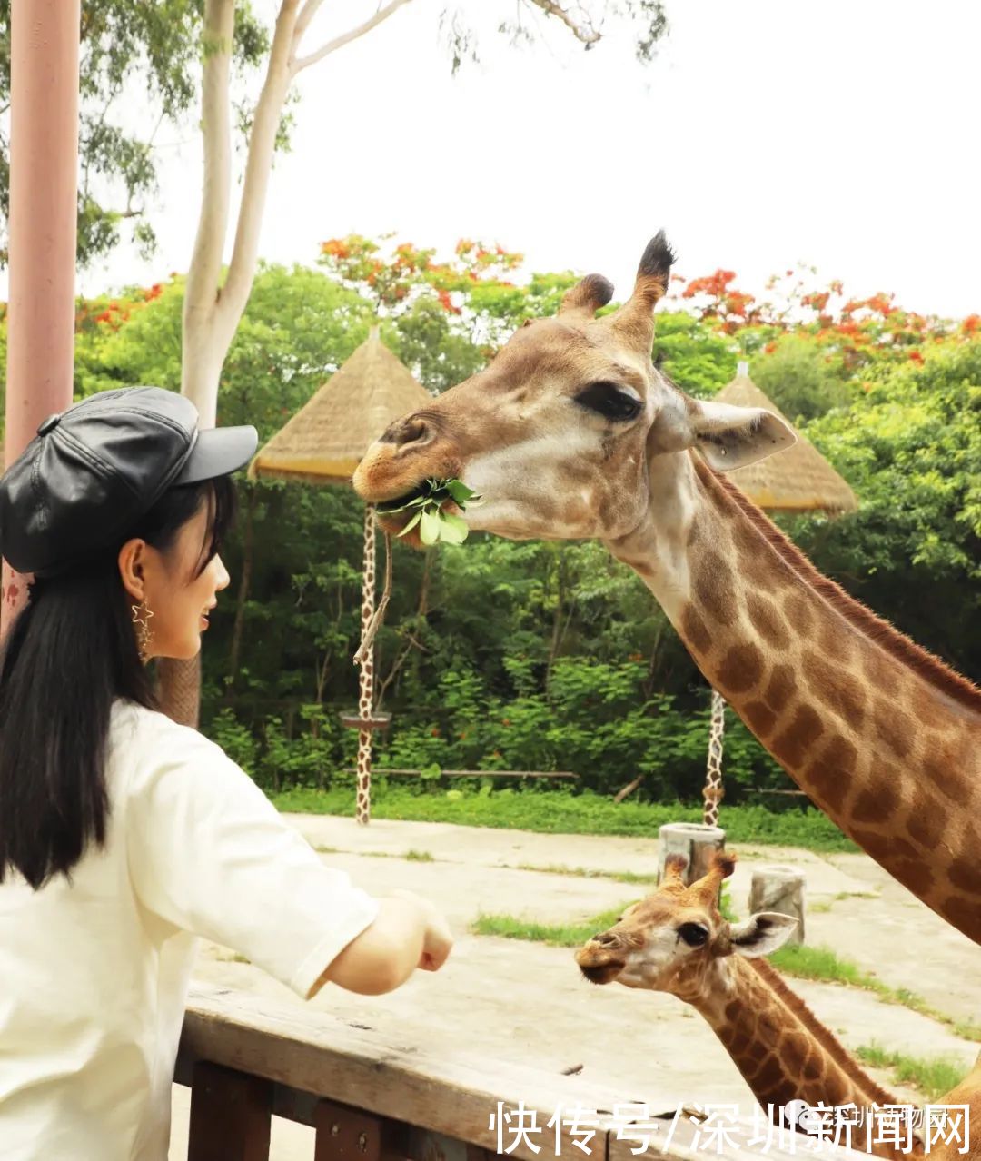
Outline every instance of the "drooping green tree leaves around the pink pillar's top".
<path fill-rule="evenodd" d="M 235 64 L 247 75 L 269 46 L 250 3 L 236 21 Z M 157 193 L 153 142 L 165 123 L 183 124 L 199 102 L 202 6 L 195 0 L 86 0 L 79 62 L 78 260 L 109 253 L 129 225 L 144 253 L 156 238 L 147 204 Z M 127 128 L 136 86 L 152 123 Z M 128 98 L 129 94 L 129 98 Z M 142 96 L 142 99 L 144 99 Z M 0 107 L 10 100 L 10 0 L 0 0 Z M 0 128 L 0 264 L 7 255 L 9 130 Z"/>

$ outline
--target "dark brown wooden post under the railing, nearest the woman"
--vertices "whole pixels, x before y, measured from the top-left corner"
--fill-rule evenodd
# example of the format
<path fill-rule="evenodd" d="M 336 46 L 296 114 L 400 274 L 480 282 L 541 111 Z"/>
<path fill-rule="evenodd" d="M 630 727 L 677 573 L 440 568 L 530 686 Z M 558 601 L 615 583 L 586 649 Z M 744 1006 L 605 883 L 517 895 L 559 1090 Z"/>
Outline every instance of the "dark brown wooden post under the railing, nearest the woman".
<path fill-rule="evenodd" d="M 268 1081 L 207 1061 L 194 1066 L 187 1161 L 268 1161 L 272 1124 Z"/>

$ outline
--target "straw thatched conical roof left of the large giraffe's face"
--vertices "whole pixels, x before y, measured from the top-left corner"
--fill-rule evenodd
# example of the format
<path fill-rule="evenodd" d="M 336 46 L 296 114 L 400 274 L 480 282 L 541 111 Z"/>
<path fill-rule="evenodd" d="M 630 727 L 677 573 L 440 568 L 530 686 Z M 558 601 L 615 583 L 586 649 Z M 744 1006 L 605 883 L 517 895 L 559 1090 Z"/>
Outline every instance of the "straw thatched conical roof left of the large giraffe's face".
<path fill-rule="evenodd" d="M 351 358 L 260 448 L 248 475 L 347 483 L 385 427 L 431 398 L 372 327 Z"/>

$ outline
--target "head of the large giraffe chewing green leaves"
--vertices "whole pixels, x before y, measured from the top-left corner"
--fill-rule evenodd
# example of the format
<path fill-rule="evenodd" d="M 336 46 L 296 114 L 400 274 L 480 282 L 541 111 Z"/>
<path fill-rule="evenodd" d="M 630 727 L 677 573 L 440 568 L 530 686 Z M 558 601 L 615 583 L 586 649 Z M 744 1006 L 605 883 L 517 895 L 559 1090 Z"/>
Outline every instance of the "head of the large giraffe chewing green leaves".
<path fill-rule="evenodd" d="M 471 528 L 615 540 L 658 503 L 654 477 L 678 470 L 677 453 L 698 448 L 728 469 L 792 444 L 769 411 L 699 402 L 652 365 L 654 309 L 672 261 L 658 233 L 630 297 L 600 318 L 613 287 L 587 275 L 554 318 L 526 323 L 484 370 L 394 423 L 361 461 L 358 492 L 382 503 L 459 477 L 483 497 L 464 514 Z M 406 519 L 382 522 L 398 532 Z"/>

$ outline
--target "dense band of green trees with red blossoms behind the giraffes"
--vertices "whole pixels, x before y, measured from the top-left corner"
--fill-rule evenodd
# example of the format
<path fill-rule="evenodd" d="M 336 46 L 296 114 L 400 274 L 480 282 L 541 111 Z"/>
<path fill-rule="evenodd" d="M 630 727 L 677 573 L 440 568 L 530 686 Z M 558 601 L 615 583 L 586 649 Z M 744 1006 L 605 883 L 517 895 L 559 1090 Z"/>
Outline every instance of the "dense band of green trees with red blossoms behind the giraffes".
<path fill-rule="evenodd" d="M 473 241 L 440 262 L 417 247 L 334 239 L 322 260 L 260 269 L 224 367 L 222 423 L 255 423 L 268 439 L 375 320 L 439 392 L 525 318 L 554 310 L 574 280 L 522 280 L 515 255 Z M 79 303 L 77 394 L 176 387 L 182 287 L 176 277 Z M 655 354 L 698 395 L 751 358 L 861 505 L 786 521 L 791 534 L 845 589 L 978 678 L 981 319 L 918 319 L 885 296 L 838 295 L 832 308 L 823 294 L 798 293 L 795 310 L 730 298 L 757 311 L 735 326 L 710 296 L 679 295 L 658 318 Z M 205 727 L 268 786 L 322 786 L 353 765 L 355 736 L 337 712 L 356 697 L 363 509 L 346 488 L 274 482 L 243 481 L 240 502 L 224 553 L 232 587 L 204 652 Z M 459 548 L 394 551 L 376 666 L 394 723 L 380 769 L 572 770 L 606 794 L 644 772 L 641 796 L 698 799 L 708 687 L 640 579 L 600 545 L 475 534 Z M 789 788 L 731 714 L 726 745 L 728 802 Z"/>

